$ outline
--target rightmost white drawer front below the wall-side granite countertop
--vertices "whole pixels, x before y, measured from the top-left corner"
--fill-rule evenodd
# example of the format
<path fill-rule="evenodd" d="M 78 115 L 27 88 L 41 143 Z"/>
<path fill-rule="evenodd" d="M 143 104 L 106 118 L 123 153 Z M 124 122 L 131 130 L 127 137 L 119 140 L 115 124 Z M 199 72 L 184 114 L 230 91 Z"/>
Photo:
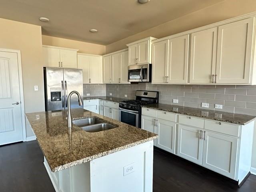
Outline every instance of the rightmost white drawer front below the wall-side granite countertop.
<path fill-rule="evenodd" d="M 223 122 L 219 122 L 219 121 L 205 120 L 204 128 L 207 130 L 210 130 L 210 131 L 215 131 L 215 132 L 238 137 L 240 126 L 223 123 Z"/>

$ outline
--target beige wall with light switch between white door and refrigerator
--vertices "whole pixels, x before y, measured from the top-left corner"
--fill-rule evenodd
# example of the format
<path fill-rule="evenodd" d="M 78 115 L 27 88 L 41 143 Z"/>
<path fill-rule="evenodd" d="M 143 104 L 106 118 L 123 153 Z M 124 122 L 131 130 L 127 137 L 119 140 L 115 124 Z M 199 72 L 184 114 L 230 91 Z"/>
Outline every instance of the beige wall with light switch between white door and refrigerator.
<path fill-rule="evenodd" d="M 44 111 L 41 26 L 2 18 L 0 26 L 0 48 L 21 52 L 25 112 Z"/>

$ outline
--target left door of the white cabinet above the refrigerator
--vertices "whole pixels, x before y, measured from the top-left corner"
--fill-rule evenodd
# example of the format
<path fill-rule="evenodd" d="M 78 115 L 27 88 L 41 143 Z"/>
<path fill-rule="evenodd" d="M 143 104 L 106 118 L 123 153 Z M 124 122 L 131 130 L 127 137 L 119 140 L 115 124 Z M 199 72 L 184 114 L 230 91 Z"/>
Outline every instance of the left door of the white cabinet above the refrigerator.
<path fill-rule="evenodd" d="M 44 66 L 60 67 L 60 49 L 43 47 Z"/>

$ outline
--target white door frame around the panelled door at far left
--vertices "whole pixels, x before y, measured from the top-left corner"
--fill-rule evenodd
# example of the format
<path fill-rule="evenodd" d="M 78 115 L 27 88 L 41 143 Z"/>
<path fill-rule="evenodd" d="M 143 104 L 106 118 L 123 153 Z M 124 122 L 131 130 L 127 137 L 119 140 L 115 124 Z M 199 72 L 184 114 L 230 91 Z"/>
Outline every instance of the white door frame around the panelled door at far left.
<path fill-rule="evenodd" d="M 19 75 L 19 86 L 20 86 L 20 108 L 21 108 L 21 120 L 22 120 L 22 138 L 26 141 L 26 121 L 25 121 L 25 106 L 24 106 L 24 92 L 23 92 L 23 79 L 22 79 L 22 64 L 21 64 L 21 53 L 20 50 L 4 49 L 0 48 L 1 52 L 16 53 L 18 60 L 18 75 Z"/>

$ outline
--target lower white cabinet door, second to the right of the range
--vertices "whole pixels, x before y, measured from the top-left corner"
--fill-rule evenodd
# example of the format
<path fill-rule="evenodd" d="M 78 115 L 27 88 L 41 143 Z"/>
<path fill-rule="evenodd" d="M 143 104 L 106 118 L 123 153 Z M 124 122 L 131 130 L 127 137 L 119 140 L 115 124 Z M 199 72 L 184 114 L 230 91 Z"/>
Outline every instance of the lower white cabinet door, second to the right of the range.
<path fill-rule="evenodd" d="M 157 120 L 156 134 L 156 146 L 175 154 L 176 146 L 176 124 L 164 120 Z"/>

